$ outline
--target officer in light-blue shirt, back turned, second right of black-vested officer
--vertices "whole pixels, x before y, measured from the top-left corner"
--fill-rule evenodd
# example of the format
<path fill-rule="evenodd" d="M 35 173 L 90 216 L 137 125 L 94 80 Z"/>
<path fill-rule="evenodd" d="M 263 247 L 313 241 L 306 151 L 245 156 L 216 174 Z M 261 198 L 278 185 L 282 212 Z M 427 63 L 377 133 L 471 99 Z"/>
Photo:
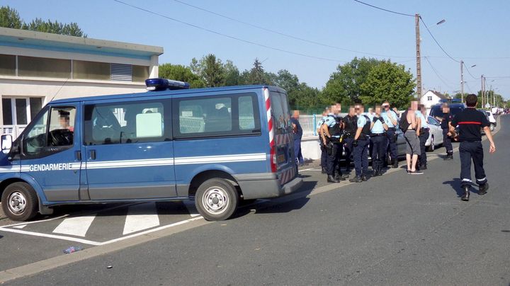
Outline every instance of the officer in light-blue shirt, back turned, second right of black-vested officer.
<path fill-rule="evenodd" d="M 372 140 L 372 168 L 373 176 L 382 175 L 382 166 L 387 150 L 386 130 L 387 125 L 381 115 L 380 105 L 375 106 L 372 122 L 370 123 L 370 140 Z"/>

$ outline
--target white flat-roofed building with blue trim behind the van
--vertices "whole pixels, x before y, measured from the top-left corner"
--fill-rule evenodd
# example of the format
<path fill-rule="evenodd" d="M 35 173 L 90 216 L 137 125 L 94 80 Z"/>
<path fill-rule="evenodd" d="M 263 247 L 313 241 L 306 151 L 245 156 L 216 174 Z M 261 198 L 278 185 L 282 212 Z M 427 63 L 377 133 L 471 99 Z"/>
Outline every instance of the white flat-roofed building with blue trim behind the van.
<path fill-rule="evenodd" d="M 0 134 L 52 99 L 145 91 L 163 47 L 0 28 Z"/>

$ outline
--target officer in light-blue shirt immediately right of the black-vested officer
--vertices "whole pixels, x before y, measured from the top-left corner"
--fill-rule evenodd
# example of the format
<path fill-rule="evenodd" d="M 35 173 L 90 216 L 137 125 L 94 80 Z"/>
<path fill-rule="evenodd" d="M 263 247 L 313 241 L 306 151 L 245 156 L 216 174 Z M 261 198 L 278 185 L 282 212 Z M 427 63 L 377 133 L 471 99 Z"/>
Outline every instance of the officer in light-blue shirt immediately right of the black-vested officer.
<path fill-rule="evenodd" d="M 356 104 L 356 113 L 358 114 L 358 122 L 356 135 L 354 135 L 354 167 L 356 168 L 356 177 L 351 178 L 351 182 L 360 183 L 367 181 L 368 173 L 368 141 L 370 139 L 370 118 L 363 114 L 365 111 L 363 105 Z"/>

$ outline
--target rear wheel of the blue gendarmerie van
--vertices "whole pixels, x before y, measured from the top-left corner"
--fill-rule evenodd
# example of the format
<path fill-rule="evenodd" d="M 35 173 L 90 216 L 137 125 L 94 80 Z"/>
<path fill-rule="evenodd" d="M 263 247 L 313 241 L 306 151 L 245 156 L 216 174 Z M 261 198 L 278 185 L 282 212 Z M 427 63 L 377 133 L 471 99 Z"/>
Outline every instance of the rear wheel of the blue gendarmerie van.
<path fill-rule="evenodd" d="M 198 187 L 195 205 L 202 216 L 209 220 L 225 220 L 234 214 L 239 195 L 234 186 L 224 179 L 212 178 Z"/>

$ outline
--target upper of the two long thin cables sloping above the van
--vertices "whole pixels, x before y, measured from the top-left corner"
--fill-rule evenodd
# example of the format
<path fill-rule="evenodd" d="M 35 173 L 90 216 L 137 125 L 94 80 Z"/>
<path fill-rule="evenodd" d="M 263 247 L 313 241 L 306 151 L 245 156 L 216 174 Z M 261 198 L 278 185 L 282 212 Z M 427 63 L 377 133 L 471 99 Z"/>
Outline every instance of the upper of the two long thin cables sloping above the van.
<path fill-rule="evenodd" d="M 255 24 L 252 24 L 252 23 L 248 23 L 246 21 L 242 21 L 242 20 L 239 20 L 237 18 L 232 18 L 230 16 L 226 16 L 226 15 L 217 13 L 215 11 L 210 11 L 208 9 L 205 9 L 205 8 L 202 8 L 202 7 L 199 7 L 199 6 L 195 6 L 195 5 L 186 3 L 186 2 L 181 1 L 181 0 L 174 0 L 174 1 L 176 1 L 177 3 L 183 4 L 183 5 L 189 6 L 191 8 L 196 8 L 196 9 L 198 9 L 200 11 L 204 11 L 206 13 L 210 13 L 212 15 L 215 15 L 215 16 L 218 16 L 218 17 L 221 17 L 221 18 L 225 18 L 225 19 L 230 20 L 230 21 L 234 21 L 234 22 L 237 22 L 237 23 L 242 23 L 244 25 L 249 25 L 252 28 L 257 28 L 259 30 L 264 30 L 264 31 L 269 32 L 269 33 L 273 33 L 273 34 L 276 34 L 276 35 L 282 35 L 283 37 L 291 38 L 291 39 L 294 39 L 294 40 L 300 40 L 302 42 L 308 42 L 310 44 L 319 45 L 319 46 L 322 46 L 322 47 L 329 47 L 329 48 L 333 48 L 333 49 L 336 49 L 336 50 L 342 50 L 342 51 L 346 51 L 346 52 L 356 52 L 358 54 L 372 55 L 372 56 L 378 56 L 378 57 L 411 58 L 411 57 L 404 57 L 404 56 L 381 55 L 381 54 L 374 54 L 374 53 L 370 53 L 370 52 L 361 52 L 361 51 L 357 51 L 357 50 L 349 50 L 349 49 L 346 49 L 344 47 L 338 47 L 338 46 L 334 46 L 334 45 L 329 45 L 329 44 L 326 44 L 324 42 L 317 42 L 317 41 L 314 41 L 314 40 L 300 38 L 300 37 L 297 37 L 295 35 L 290 35 L 290 34 L 287 34 L 287 33 L 278 32 L 277 30 L 272 30 L 272 29 L 264 28 L 264 27 L 262 27 L 260 25 L 255 25 Z"/>

